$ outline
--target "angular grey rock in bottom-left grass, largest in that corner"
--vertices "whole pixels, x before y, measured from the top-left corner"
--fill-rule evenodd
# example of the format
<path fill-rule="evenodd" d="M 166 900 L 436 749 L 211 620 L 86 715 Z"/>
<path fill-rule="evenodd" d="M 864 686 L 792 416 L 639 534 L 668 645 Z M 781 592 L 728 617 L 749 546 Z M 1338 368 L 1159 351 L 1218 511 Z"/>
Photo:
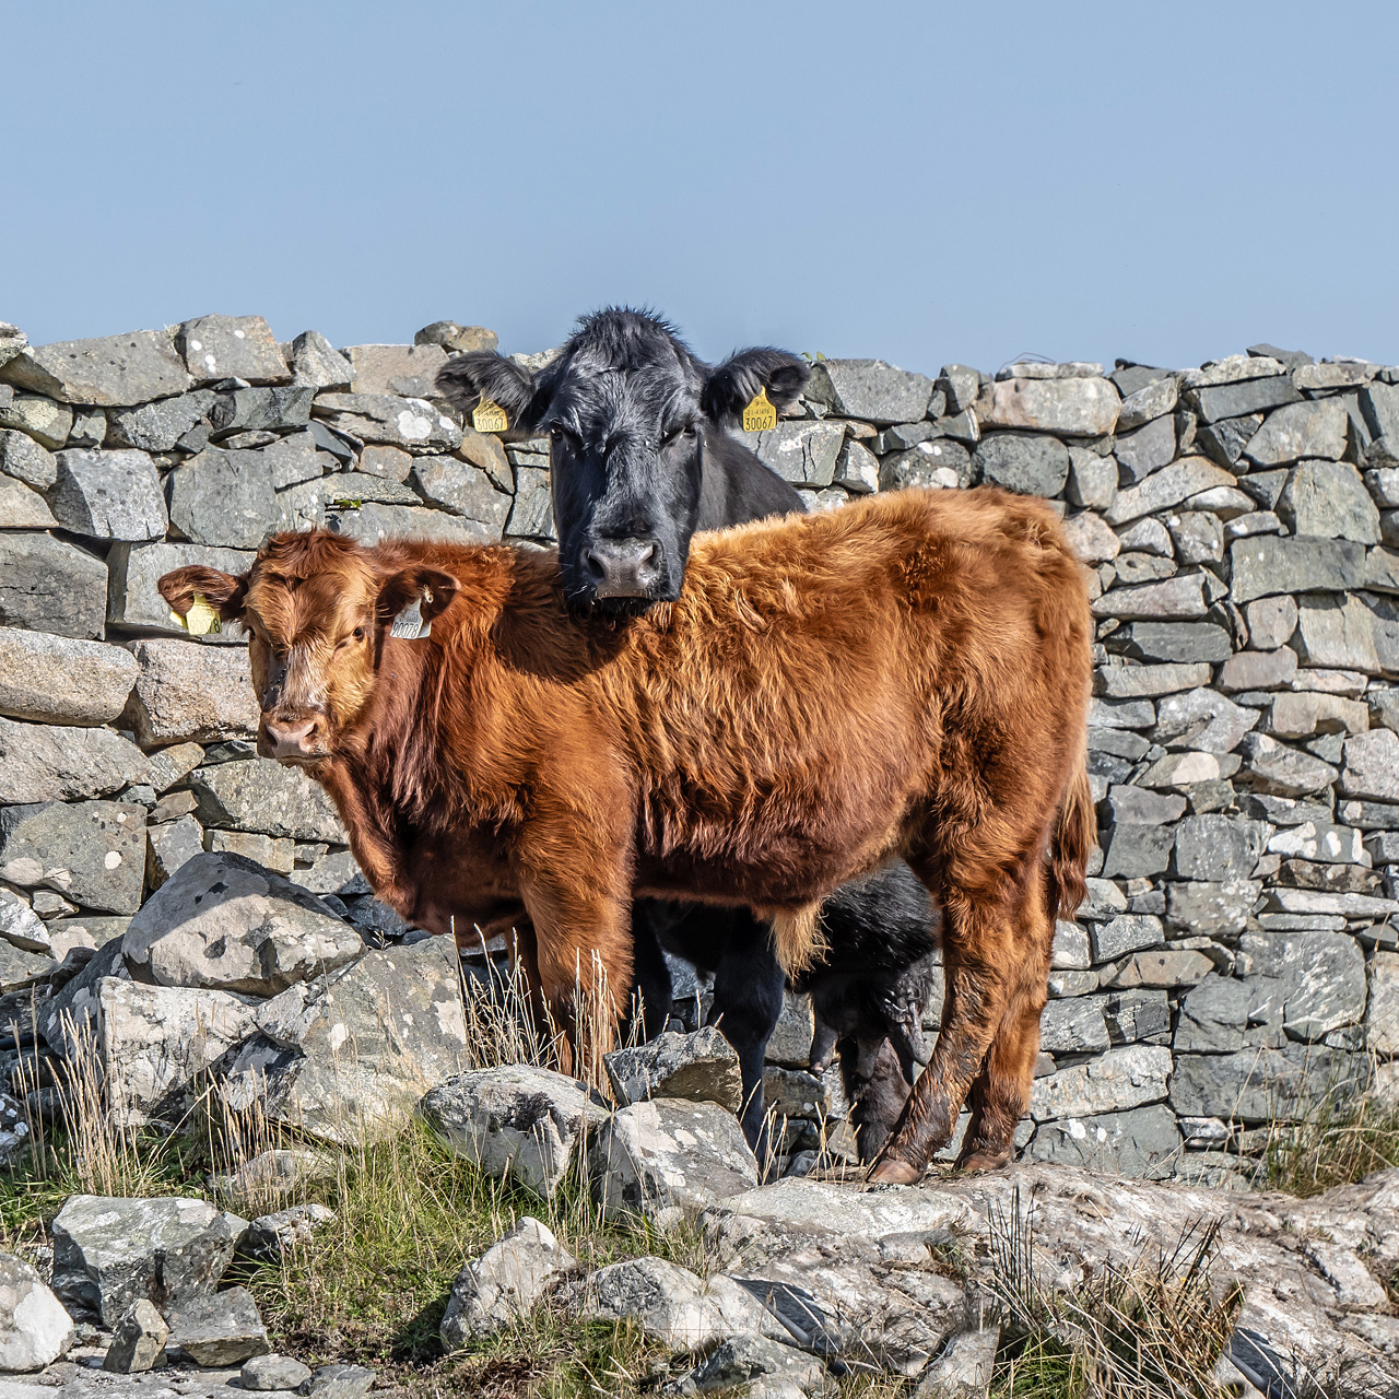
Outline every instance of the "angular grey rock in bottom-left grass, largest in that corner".
<path fill-rule="evenodd" d="M 213 1293 L 246 1228 L 207 1200 L 71 1195 L 53 1221 L 53 1291 L 78 1318 L 115 1326 L 140 1297 Z"/>

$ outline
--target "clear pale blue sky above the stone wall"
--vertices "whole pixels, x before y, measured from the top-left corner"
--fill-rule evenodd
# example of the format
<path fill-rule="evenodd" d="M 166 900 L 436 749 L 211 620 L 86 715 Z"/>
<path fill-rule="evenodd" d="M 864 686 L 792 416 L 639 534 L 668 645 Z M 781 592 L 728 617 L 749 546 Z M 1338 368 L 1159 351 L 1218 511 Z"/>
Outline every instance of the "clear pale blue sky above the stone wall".
<path fill-rule="evenodd" d="M 1399 361 L 1399 4 L 0 0 L 0 320 Z"/>

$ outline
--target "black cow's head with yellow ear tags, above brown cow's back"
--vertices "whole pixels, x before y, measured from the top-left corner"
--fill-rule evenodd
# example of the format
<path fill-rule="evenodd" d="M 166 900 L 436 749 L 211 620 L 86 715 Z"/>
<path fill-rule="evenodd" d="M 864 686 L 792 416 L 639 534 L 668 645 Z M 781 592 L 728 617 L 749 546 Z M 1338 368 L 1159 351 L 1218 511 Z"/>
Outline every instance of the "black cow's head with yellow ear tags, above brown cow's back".
<path fill-rule="evenodd" d="M 548 434 L 569 600 L 627 613 L 680 596 L 715 435 L 760 389 L 786 407 L 806 374 L 771 348 L 711 368 L 656 316 L 607 309 L 579 320 L 537 374 L 473 351 L 448 361 L 438 388 L 464 413 L 492 399 L 512 434 Z"/>

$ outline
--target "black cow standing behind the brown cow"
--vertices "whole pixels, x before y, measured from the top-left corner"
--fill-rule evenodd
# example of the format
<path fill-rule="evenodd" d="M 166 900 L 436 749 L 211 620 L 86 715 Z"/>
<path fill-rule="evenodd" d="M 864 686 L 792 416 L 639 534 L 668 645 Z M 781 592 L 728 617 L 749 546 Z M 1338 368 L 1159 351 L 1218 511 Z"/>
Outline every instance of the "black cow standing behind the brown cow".
<path fill-rule="evenodd" d="M 481 399 L 495 402 L 511 435 L 548 434 L 568 597 L 578 607 L 625 616 L 679 597 L 695 530 L 803 509 L 796 490 L 726 429 L 760 390 L 776 409 L 788 407 L 806 375 L 800 360 L 772 348 L 743 350 L 711 368 L 663 320 L 609 309 L 583 318 L 537 374 L 491 351 L 473 351 L 438 372 L 438 389 L 464 413 Z M 901 863 L 837 891 L 823 908 L 830 975 L 823 964 L 799 988 L 813 992 L 818 1014 L 827 1017 L 821 1042 L 834 1030 L 848 1052 L 844 1072 L 856 1093 L 865 1084 L 859 1055 L 869 1059 L 867 1048 L 886 1035 L 895 1046 L 893 1062 L 907 1083 L 902 1095 L 873 1087 L 865 1094 L 860 1136 L 867 1160 L 877 1147 L 866 1154 L 865 1142 L 877 1137 L 883 1144 L 908 1095 L 912 1063 L 923 1058 L 914 1052 L 907 1016 L 900 1020 L 891 1007 L 926 981 L 932 918 L 923 886 Z M 746 909 L 638 900 L 632 933 L 648 1038 L 663 1028 L 672 1000 L 662 949 L 713 972 L 711 1020 L 739 1053 L 743 1126 L 760 1146 L 764 1055 L 783 986 L 767 925 Z M 865 975 L 852 978 L 842 958 L 846 949 L 859 949 Z"/>

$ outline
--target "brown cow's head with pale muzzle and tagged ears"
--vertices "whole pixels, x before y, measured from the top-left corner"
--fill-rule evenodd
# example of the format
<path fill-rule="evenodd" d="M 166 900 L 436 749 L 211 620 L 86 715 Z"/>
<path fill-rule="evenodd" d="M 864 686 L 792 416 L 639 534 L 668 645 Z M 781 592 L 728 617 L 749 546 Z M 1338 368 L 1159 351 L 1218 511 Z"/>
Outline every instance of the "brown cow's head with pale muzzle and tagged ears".
<path fill-rule="evenodd" d="M 192 565 L 159 581 L 180 617 L 199 593 L 222 621 L 248 631 L 262 715 L 257 751 L 315 765 L 336 753 L 364 709 L 393 620 L 417 603 L 424 623 L 456 596 L 457 581 L 425 564 L 389 564 L 327 530 L 276 534 L 243 575 Z"/>

